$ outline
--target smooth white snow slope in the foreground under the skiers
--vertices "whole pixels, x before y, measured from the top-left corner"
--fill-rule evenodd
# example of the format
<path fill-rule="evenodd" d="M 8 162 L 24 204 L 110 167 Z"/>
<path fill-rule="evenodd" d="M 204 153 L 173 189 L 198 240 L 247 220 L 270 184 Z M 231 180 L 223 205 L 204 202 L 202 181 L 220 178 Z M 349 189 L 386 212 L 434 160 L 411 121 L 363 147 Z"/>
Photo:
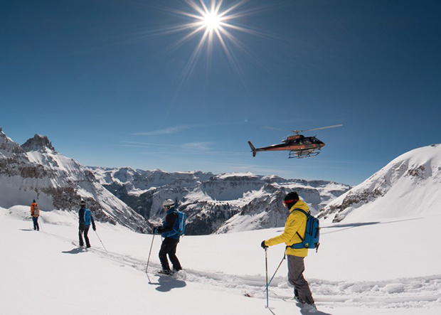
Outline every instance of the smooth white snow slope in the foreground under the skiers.
<path fill-rule="evenodd" d="M 323 225 L 322 247 L 309 252 L 305 272 L 317 314 L 441 314 L 440 220 L 429 213 Z M 69 211 L 43 213 L 41 232 L 31 226 L 27 206 L 0 208 L 2 314 L 306 314 L 289 299 L 286 262 L 270 286 L 272 313 L 265 309 L 260 242 L 279 228 L 186 236 L 178 247 L 184 271 L 170 278 L 154 274 L 160 237 L 145 274 L 152 235 L 98 223 L 102 243 L 91 233 L 85 252 L 73 245 L 78 230 Z M 410 228 L 432 237 L 422 247 Z M 378 246 L 386 231 L 393 245 Z M 270 275 L 283 250 L 268 250 Z"/>

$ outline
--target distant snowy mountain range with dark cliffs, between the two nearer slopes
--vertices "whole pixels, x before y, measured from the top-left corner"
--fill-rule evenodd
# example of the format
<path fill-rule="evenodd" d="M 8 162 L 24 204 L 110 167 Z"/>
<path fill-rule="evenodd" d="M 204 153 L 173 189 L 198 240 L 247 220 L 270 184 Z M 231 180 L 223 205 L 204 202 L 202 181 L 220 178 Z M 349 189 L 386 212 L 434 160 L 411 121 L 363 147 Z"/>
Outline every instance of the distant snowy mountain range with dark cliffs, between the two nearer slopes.
<path fill-rule="evenodd" d="M 154 220 L 171 198 L 187 215 L 186 234 L 203 235 L 275 228 L 285 224 L 282 199 L 297 191 L 312 211 L 349 190 L 329 181 L 304 181 L 253 173 L 167 173 L 130 168 L 90 168 L 100 183 L 138 213 Z"/>

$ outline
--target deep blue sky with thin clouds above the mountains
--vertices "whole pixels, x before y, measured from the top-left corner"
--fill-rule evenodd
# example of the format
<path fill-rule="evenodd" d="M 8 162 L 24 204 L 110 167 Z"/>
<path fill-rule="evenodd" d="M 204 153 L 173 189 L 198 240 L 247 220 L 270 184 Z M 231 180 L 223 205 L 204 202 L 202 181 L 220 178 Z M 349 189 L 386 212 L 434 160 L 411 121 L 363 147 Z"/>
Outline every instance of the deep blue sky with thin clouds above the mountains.
<path fill-rule="evenodd" d="M 189 2 L 1 1 L 0 127 L 89 166 L 351 185 L 440 142 L 440 1 L 225 0 L 233 38 L 199 50 Z M 247 144 L 334 124 L 311 159 Z"/>

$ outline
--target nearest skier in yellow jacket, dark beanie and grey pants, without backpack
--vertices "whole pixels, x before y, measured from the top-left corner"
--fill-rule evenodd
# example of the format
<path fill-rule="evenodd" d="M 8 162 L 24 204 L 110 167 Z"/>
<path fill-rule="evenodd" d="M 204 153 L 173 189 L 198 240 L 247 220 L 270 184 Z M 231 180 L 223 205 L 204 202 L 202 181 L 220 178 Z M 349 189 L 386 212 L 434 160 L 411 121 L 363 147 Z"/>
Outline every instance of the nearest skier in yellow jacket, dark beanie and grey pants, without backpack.
<path fill-rule="evenodd" d="M 294 299 L 296 299 L 299 304 L 302 304 L 302 306 L 311 309 L 311 311 L 315 311 L 317 308 L 312 298 L 311 289 L 309 289 L 309 284 L 303 277 L 304 257 L 308 255 L 308 249 L 294 249 L 290 247 L 293 244 L 302 242 L 299 236 L 304 238 L 307 226 L 306 215 L 300 211 L 294 211 L 294 209 L 300 208 L 309 212 L 309 207 L 304 201 L 299 199 L 299 195 L 294 191 L 285 196 L 283 205 L 289 210 L 285 230 L 279 236 L 264 240 L 260 246 L 265 249 L 266 247 L 285 242 L 288 257 L 288 282 L 294 286 Z"/>

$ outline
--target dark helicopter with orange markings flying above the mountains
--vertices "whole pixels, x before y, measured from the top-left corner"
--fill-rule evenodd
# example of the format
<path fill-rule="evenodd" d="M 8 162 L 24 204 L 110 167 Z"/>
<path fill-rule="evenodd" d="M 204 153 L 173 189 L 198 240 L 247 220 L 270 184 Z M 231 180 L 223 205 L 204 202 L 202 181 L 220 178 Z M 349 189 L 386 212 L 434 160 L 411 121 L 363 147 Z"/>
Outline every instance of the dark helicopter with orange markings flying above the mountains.
<path fill-rule="evenodd" d="M 248 144 L 250 144 L 253 156 L 256 156 L 257 152 L 259 151 L 289 151 L 288 159 L 302 159 L 319 155 L 320 149 L 324 147 L 324 142 L 320 141 L 316 137 L 304 137 L 303 134 L 300 134 L 301 132 L 311 132 L 312 130 L 321 130 L 341 126 L 343 126 L 343 124 L 335 124 L 334 126 L 307 130 L 292 130 L 292 132 L 294 132 L 294 135 L 287 137 L 287 139 L 285 140 L 282 140 L 282 144 L 273 144 L 272 146 L 265 146 L 257 149 L 250 141 L 248 142 Z"/>

